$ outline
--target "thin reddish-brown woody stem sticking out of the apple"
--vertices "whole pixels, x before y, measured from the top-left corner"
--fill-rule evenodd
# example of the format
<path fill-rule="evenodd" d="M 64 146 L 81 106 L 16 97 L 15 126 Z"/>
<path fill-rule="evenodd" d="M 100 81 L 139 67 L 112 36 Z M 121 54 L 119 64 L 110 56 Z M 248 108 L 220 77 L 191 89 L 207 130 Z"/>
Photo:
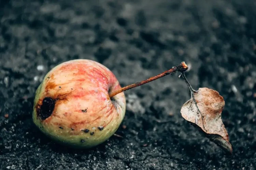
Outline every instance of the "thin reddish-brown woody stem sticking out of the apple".
<path fill-rule="evenodd" d="M 158 74 L 158 75 L 155 75 L 155 76 L 153 76 L 153 77 L 151 77 L 151 78 L 148 78 L 148 79 L 143 80 L 143 81 L 141 81 L 141 82 L 137 82 L 137 83 L 134 83 L 134 84 L 130 84 L 130 85 L 128 85 L 128 86 L 122 87 L 121 89 L 118 89 L 118 90 L 116 90 L 116 91 L 113 91 L 113 92 L 109 95 L 109 97 L 112 98 L 113 96 L 119 94 L 120 92 L 129 90 L 129 89 L 134 88 L 134 87 L 141 86 L 141 85 L 146 84 L 146 83 L 149 83 L 149 82 L 152 82 L 152 81 L 154 81 L 154 80 L 156 80 L 156 79 L 159 79 L 159 78 L 164 77 L 164 76 L 166 76 L 166 75 L 173 74 L 173 73 L 175 73 L 175 72 L 177 72 L 177 71 L 183 73 L 183 72 L 185 72 L 187 69 L 188 69 L 188 66 L 186 65 L 186 63 L 185 63 L 185 62 L 182 62 L 180 65 L 177 65 L 177 66 L 175 66 L 175 67 L 172 67 L 171 69 L 169 69 L 169 70 L 167 70 L 167 71 L 165 71 L 165 72 L 162 72 L 162 73 L 160 73 L 160 74 Z"/>

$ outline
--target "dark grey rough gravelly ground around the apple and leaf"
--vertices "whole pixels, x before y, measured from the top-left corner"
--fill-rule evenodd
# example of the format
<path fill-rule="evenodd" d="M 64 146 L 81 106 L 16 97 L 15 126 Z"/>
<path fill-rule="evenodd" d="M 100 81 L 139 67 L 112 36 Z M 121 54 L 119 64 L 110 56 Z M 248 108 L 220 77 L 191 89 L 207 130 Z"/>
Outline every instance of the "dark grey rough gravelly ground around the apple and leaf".
<path fill-rule="evenodd" d="M 1 169 L 255 170 L 255 1 L 9 0 L 0 6 Z M 177 75 L 125 92 L 127 112 L 116 132 L 123 138 L 90 150 L 57 145 L 33 125 L 34 93 L 51 68 L 77 58 L 104 64 L 122 86 L 185 61 L 195 89 L 224 97 L 233 154 L 181 117 L 189 91 Z"/>

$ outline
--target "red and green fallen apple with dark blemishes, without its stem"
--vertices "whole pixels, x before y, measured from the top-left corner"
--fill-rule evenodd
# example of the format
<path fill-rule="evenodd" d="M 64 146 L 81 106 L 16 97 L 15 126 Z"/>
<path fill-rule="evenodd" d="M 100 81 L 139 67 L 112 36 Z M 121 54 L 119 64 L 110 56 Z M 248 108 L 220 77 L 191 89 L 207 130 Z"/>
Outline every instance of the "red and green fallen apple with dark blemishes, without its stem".
<path fill-rule="evenodd" d="M 126 111 L 124 92 L 102 64 L 85 59 L 50 70 L 35 92 L 33 122 L 48 137 L 71 148 L 91 148 L 109 139 Z"/>

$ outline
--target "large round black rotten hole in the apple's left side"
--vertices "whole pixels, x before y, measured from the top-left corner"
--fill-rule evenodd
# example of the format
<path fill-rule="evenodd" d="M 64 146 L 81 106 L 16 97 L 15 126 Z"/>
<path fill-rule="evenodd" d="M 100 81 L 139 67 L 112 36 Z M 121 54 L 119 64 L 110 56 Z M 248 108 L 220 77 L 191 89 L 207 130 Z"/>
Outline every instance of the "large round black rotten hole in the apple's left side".
<path fill-rule="evenodd" d="M 55 106 L 55 101 L 52 98 L 44 98 L 42 105 L 37 108 L 37 115 L 41 120 L 45 120 L 52 115 Z"/>

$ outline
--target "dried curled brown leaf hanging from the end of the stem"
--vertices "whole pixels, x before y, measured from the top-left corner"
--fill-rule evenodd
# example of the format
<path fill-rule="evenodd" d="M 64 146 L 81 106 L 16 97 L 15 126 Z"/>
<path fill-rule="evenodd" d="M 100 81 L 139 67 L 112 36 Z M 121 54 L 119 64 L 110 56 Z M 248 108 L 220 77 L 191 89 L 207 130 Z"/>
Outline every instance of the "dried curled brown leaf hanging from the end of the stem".
<path fill-rule="evenodd" d="M 199 126 L 204 134 L 228 153 L 232 153 L 227 130 L 221 119 L 225 101 L 219 93 L 209 88 L 199 88 L 181 108 L 187 121 Z"/>

